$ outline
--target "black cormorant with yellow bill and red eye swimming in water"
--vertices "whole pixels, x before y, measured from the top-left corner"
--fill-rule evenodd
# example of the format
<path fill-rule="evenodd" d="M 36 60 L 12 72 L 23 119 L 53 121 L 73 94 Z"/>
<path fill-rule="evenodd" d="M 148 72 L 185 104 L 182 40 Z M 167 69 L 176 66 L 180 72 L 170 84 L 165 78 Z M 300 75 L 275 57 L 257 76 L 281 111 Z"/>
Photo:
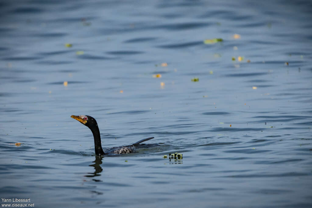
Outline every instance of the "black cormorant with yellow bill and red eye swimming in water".
<path fill-rule="evenodd" d="M 145 142 L 147 140 L 150 140 L 154 137 L 149 137 L 146 139 L 142 139 L 132 145 L 128 146 L 122 146 L 122 147 L 114 147 L 111 150 L 108 151 L 108 153 L 104 153 L 101 145 L 101 136 L 100 136 L 100 130 L 96 123 L 96 120 L 87 115 L 80 115 L 80 116 L 74 116 L 71 115 L 71 118 L 76 119 L 80 123 L 84 124 L 85 126 L 89 127 L 91 132 L 93 133 L 94 137 L 94 148 L 95 148 L 95 155 L 102 156 L 105 154 L 123 154 L 123 153 L 132 153 L 135 151 L 135 147 L 138 146 L 140 143 Z"/>

